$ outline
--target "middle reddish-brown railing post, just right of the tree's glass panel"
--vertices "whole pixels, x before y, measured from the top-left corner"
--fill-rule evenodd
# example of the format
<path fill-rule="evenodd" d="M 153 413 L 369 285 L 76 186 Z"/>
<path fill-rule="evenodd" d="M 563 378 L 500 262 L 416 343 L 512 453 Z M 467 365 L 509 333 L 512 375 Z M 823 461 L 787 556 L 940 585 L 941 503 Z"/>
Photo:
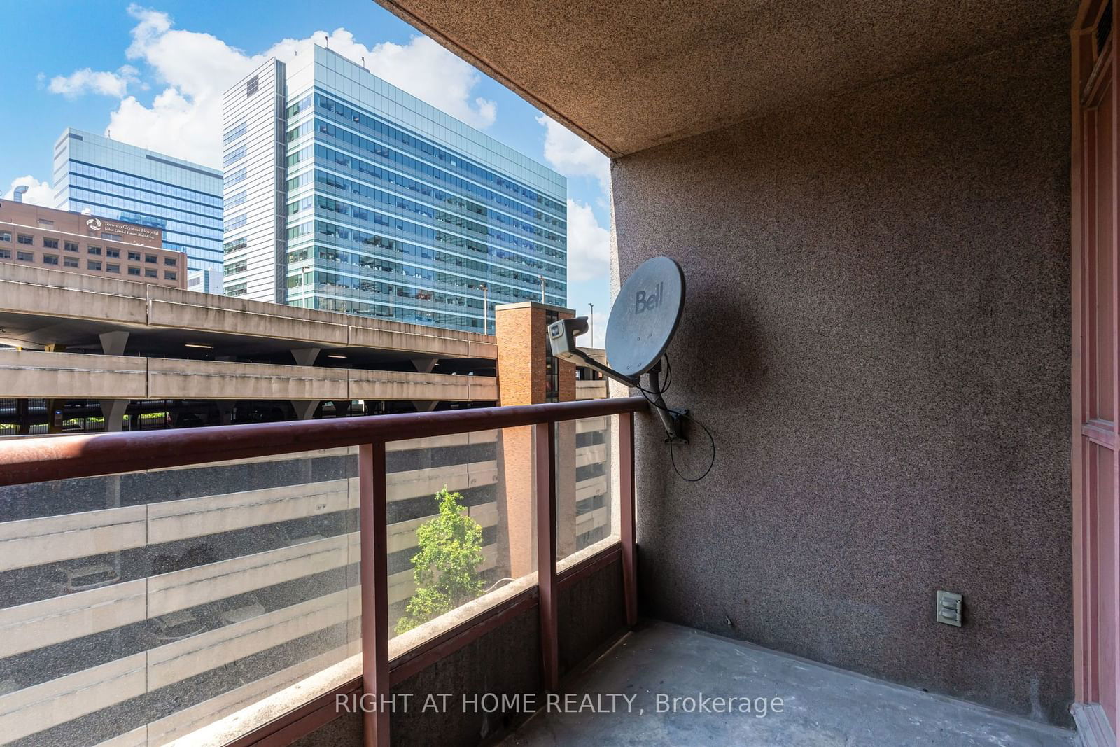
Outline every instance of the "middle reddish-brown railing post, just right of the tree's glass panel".
<path fill-rule="evenodd" d="M 536 476 L 536 585 L 540 589 L 541 679 L 544 690 L 560 687 L 557 625 L 557 451 L 556 423 L 533 426 Z"/>

